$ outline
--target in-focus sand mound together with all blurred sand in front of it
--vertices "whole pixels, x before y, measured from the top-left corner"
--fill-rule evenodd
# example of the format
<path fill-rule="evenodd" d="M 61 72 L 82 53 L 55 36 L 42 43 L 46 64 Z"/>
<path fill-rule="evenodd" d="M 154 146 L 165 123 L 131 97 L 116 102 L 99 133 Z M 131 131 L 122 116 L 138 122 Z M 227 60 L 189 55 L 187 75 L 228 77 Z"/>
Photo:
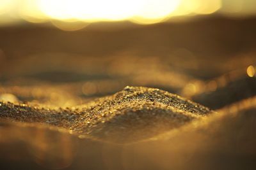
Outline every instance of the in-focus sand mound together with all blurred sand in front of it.
<path fill-rule="evenodd" d="M 253 169 L 255 106 L 252 97 L 212 112 L 145 87 L 70 109 L 1 102 L 1 167 Z"/>

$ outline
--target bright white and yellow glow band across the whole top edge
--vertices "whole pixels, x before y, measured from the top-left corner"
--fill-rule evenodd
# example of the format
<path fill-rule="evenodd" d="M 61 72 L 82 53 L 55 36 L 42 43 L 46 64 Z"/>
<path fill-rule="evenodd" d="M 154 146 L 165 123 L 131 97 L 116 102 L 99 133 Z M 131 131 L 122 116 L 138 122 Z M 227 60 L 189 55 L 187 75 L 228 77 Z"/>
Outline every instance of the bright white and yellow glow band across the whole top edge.
<path fill-rule="evenodd" d="M 53 25 L 74 31 L 84 27 L 77 22 L 130 20 L 152 24 L 177 15 L 244 15 L 256 11 L 255 4 L 241 0 L 1 0 L 0 24 L 61 20 L 67 24 Z"/>

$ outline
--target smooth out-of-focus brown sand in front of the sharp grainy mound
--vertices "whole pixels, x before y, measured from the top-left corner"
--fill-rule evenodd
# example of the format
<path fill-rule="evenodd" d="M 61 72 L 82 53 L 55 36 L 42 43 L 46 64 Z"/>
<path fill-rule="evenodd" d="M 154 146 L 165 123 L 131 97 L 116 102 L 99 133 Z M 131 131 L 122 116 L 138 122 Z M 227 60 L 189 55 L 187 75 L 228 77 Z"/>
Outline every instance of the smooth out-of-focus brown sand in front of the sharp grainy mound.
<path fill-rule="evenodd" d="M 253 169 L 255 104 L 256 98 L 252 97 L 129 145 L 79 139 L 24 122 L 1 122 L 1 156 L 12 162 L 13 155 L 19 155 L 22 162 L 18 165 L 27 169 L 33 167 L 33 161 L 59 169 Z M 20 141 L 27 147 L 22 147 Z M 32 155 L 29 164 L 26 154 Z"/>

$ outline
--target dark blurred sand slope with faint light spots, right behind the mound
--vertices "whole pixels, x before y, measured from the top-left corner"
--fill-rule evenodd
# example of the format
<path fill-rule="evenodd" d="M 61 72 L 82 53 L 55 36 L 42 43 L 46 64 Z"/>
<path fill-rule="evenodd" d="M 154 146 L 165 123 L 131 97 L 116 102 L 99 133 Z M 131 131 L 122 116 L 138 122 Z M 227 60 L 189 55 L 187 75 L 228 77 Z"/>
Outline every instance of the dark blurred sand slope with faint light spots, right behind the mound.
<path fill-rule="evenodd" d="M 205 81 L 204 90 L 191 97 L 193 101 L 214 110 L 256 95 L 256 78 L 246 74 L 246 68 Z"/>

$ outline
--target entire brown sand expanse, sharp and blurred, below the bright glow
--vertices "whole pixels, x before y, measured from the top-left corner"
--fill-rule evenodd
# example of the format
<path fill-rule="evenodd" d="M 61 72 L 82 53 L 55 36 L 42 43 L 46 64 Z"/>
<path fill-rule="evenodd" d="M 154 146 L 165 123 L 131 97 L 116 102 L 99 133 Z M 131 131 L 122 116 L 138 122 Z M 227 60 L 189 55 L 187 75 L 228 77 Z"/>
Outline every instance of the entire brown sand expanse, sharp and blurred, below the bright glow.
<path fill-rule="evenodd" d="M 1 27 L 0 169 L 255 169 L 255 20 Z"/>

